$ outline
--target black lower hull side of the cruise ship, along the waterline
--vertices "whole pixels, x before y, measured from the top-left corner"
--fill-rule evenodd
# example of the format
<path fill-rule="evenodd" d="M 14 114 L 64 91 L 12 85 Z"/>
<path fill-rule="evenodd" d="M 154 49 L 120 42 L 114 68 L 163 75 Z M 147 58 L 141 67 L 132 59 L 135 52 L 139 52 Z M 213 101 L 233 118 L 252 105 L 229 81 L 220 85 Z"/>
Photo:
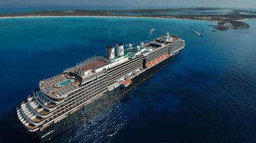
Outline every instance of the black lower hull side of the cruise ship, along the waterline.
<path fill-rule="evenodd" d="M 84 108 L 82 108 L 81 110 L 76 111 L 75 113 L 69 115 L 63 120 L 60 120 L 60 122 L 51 124 L 51 126 L 43 129 L 43 131 L 38 129 L 34 132 L 27 132 L 32 135 L 32 137 L 34 137 L 35 140 L 37 140 L 38 142 L 47 142 L 48 140 L 51 140 L 51 138 L 54 138 L 56 137 L 56 135 L 59 135 L 67 129 L 75 126 L 75 124 L 86 121 L 91 115 L 93 115 L 97 111 L 106 108 L 106 106 L 108 106 L 111 102 L 119 99 L 121 95 L 123 95 L 127 91 L 132 90 L 132 88 L 134 88 L 141 82 L 154 75 L 154 73 L 157 73 L 159 70 L 167 66 L 167 64 L 169 64 L 170 61 L 174 59 L 174 57 L 176 57 L 176 55 L 165 59 L 165 61 L 162 61 L 159 64 L 156 64 L 152 68 L 141 73 L 140 75 L 137 75 L 137 77 L 134 77 L 134 79 L 132 79 L 132 83 L 129 86 L 120 86 L 119 88 L 115 88 L 115 90 L 109 91 L 104 96 L 100 97 L 99 99 L 95 99 L 87 106 L 84 106 Z"/>

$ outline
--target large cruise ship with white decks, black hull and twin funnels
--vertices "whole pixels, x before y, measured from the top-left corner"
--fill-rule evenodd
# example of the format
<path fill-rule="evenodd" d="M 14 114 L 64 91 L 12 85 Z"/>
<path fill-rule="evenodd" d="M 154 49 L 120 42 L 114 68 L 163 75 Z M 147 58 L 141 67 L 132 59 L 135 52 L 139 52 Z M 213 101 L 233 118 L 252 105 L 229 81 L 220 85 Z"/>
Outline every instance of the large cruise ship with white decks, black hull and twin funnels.
<path fill-rule="evenodd" d="M 17 117 L 27 133 L 47 142 L 167 66 L 184 46 L 183 39 L 169 33 L 137 46 L 106 46 L 106 56 L 39 81 L 39 88 L 17 106 Z"/>

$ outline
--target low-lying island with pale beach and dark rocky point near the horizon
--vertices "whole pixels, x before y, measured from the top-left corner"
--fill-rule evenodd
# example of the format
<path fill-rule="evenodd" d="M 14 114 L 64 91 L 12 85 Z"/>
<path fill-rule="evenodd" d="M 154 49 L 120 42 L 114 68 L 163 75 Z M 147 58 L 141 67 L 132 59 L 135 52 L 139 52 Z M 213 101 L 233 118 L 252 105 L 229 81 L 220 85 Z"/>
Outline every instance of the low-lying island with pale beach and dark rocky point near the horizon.
<path fill-rule="evenodd" d="M 211 25 L 217 30 L 230 28 L 250 28 L 250 25 L 242 22 L 244 19 L 255 19 L 256 12 L 250 10 L 223 9 L 223 8 L 167 8 L 167 9 L 143 9 L 143 10 L 58 10 L 0 14 L 0 18 L 13 17 L 149 17 L 163 19 L 189 19 L 200 21 L 214 21 L 217 25 Z"/>

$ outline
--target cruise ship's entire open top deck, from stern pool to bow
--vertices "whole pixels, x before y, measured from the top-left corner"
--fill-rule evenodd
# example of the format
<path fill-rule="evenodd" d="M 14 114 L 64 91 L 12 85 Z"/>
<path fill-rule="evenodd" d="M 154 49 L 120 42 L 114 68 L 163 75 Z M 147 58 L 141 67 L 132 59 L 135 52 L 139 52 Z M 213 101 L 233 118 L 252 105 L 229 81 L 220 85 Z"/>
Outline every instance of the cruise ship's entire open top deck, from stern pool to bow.
<path fill-rule="evenodd" d="M 39 82 L 40 90 L 52 99 L 62 99 L 69 93 L 80 88 L 80 86 L 93 79 L 103 75 L 106 69 L 111 68 L 127 60 L 134 59 L 141 55 L 155 51 L 167 44 L 180 39 L 176 36 L 170 36 L 169 33 L 161 35 L 154 41 L 134 48 L 130 46 L 124 50 L 124 55 L 115 55 L 114 59 L 108 60 L 106 57 L 92 57 L 84 62 L 80 62 L 71 68 L 67 68 L 59 75 L 44 79 Z"/>

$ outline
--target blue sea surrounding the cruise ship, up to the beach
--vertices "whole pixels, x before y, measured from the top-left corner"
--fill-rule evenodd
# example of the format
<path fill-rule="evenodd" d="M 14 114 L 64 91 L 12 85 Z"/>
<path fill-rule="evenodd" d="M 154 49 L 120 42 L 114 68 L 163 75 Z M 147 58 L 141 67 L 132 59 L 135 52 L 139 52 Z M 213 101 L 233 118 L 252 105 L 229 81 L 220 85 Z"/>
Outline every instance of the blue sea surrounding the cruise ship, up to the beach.
<path fill-rule="evenodd" d="M 158 35 L 141 32 L 149 28 L 179 35 L 185 49 L 89 123 L 51 142 L 256 142 L 256 20 L 246 23 L 249 29 L 212 32 L 213 23 L 202 21 L 0 19 L 0 142 L 27 142 L 15 108 L 38 81 L 104 55 L 106 45 Z"/>

